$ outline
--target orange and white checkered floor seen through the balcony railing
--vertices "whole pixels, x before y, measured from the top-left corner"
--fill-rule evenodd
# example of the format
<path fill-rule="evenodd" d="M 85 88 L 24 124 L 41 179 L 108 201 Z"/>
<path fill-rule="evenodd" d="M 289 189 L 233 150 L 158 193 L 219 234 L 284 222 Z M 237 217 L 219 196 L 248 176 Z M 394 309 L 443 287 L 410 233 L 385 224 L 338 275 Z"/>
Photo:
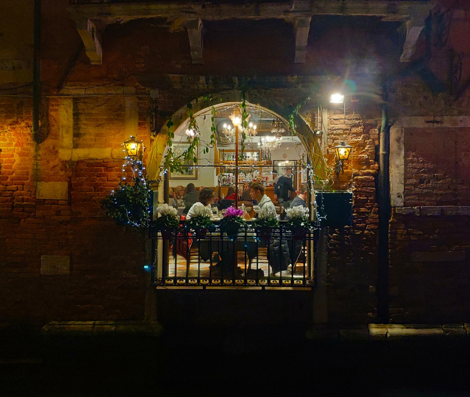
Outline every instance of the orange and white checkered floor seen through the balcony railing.
<path fill-rule="evenodd" d="M 296 263 L 296 266 L 294 267 L 294 278 L 304 277 L 303 261 L 301 257 L 302 255 L 300 255 L 299 261 Z M 258 269 L 263 270 L 265 276 L 267 277 L 268 271 L 270 269 L 268 270 L 266 248 L 259 249 L 258 258 L 253 259 L 253 262 L 251 263 L 251 269 L 257 268 L 257 259 L 258 259 Z M 247 261 L 247 266 L 248 266 L 248 257 L 246 261 Z M 186 258 L 178 254 L 176 257 L 176 277 L 186 277 L 186 266 L 187 266 Z M 245 253 L 243 251 L 238 252 L 238 266 L 242 270 L 244 270 L 245 268 Z M 209 278 L 210 277 L 209 267 L 210 267 L 210 262 L 204 262 L 202 259 L 201 259 L 201 262 L 198 263 L 197 248 L 196 249 L 191 248 L 188 277 L 198 277 L 198 268 L 199 268 L 199 271 L 200 271 L 199 277 Z M 283 277 L 290 277 L 291 275 L 292 275 L 291 267 L 289 267 L 288 270 L 282 271 Z M 169 270 L 169 274 L 167 277 L 174 277 L 174 276 L 175 276 L 175 258 L 170 252 L 170 270 Z M 277 276 L 279 276 L 279 273 L 277 273 Z"/>

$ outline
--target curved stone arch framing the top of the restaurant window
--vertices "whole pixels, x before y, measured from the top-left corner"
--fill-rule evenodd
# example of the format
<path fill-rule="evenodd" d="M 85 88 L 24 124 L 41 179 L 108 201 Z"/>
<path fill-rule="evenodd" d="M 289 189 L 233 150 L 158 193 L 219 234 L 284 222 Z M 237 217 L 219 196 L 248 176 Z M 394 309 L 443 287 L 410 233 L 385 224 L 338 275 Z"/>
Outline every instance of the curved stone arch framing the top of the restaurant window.
<path fill-rule="evenodd" d="M 211 106 L 222 106 L 222 105 L 227 105 L 227 103 L 233 103 L 234 105 L 236 103 L 240 103 L 242 101 L 243 97 L 242 94 L 239 90 L 232 90 L 232 91 L 227 91 L 227 92 L 222 92 L 214 95 L 208 95 L 207 99 L 201 99 L 201 97 L 192 100 L 190 103 L 192 105 L 192 111 L 194 114 L 197 116 L 199 112 L 205 111 L 207 108 L 210 108 Z M 263 108 L 265 108 L 267 111 L 270 111 L 274 116 L 281 118 L 284 120 L 284 122 L 288 122 L 290 118 L 290 114 L 292 110 L 290 109 L 289 106 L 285 104 L 281 104 L 278 101 L 276 101 L 274 98 L 271 98 L 266 95 L 262 95 L 258 92 L 247 92 L 245 93 L 245 100 L 249 103 L 252 104 L 257 104 Z M 181 125 L 186 123 L 188 120 L 189 115 L 188 115 L 188 108 L 187 105 L 182 106 L 179 110 L 173 113 L 172 115 L 172 121 L 173 121 L 173 128 L 174 131 L 176 131 Z M 305 137 L 305 150 L 311 154 L 312 162 L 316 161 L 317 158 L 321 159 L 322 157 L 319 154 L 319 151 L 314 150 L 318 145 L 315 145 L 318 136 L 313 133 L 312 128 L 310 127 L 309 123 L 307 120 L 302 117 L 301 114 L 297 114 L 295 116 L 295 122 L 297 125 L 297 131 L 299 135 L 302 135 Z M 160 131 L 158 132 L 156 139 L 155 139 L 155 145 L 152 150 L 152 153 L 150 153 L 150 162 L 153 164 L 150 164 L 149 162 L 149 169 L 152 169 L 150 174 L 152 174 L 153 170 L 155 169 L 155 172 L 158 172 L 158 167 L 160 167 L 161 162 L 162 162 L 162 157 L 163 153 L 166 148 L 166 142 L 167 142 L 167 127 L 164 125 Z M 150 179 L 152 178 L 152 175 L 150 175 Z M 156 178 L 155 178 L 156 179 Z"/>

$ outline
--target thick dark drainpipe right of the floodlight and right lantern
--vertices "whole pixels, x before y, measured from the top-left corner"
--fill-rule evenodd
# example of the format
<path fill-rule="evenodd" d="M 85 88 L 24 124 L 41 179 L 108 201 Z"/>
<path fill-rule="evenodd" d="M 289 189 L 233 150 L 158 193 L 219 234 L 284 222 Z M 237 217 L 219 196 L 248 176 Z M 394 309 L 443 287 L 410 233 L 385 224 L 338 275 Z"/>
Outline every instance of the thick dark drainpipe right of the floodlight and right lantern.
<path fill-rule="evenodd" d="M 385 91 L 386 92 L 386 91 Z M 390 180 L 389 180 L 390 128 L 386 95 L 382 107 L 382 127 L 379 142 L 379 175 L 378 175 L 378 207 L 379 207 L 379 246 L 377 268 L 377 322 L 390 322 L 388 294 L 389 268 L 389 221 L 390 221 Z"/>

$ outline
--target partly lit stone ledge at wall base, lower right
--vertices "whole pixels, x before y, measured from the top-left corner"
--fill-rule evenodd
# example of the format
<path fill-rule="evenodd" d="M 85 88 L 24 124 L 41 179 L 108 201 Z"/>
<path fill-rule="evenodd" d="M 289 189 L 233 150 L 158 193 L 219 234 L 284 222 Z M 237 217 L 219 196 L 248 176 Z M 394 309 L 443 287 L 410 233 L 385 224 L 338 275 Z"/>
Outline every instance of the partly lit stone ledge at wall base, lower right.
<path fill-rule="evenodd" d="M 470 323 L 466 324 L 369 324 L 349 329 L 331 328 L 328 325 L 313 326 L 305 337 L 312 340 L 394 340 L 422 337 L 470 338 Z"/>

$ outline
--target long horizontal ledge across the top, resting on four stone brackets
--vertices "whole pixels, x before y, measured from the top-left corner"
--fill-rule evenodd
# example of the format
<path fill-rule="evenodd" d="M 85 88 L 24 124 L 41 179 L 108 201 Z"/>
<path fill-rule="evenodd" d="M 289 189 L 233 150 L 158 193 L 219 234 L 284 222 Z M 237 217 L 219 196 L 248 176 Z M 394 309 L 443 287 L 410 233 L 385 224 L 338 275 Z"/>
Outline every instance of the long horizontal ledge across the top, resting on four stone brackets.
<path fill-rule="evenodd" d="M 152 3 L 99 3 L 70 5 L 75 21 L 92 19 L 103 25 L 125 23 L 139 18 L 180 18 L 185 21 L 225 19 L 291 19 L 313 15 L 379 16 L 403 21 L 418 14 L 428 14 L 432 1 L 316 0 L 285 2 L 204 3 L 194 1 L 158 1 Z"/>

